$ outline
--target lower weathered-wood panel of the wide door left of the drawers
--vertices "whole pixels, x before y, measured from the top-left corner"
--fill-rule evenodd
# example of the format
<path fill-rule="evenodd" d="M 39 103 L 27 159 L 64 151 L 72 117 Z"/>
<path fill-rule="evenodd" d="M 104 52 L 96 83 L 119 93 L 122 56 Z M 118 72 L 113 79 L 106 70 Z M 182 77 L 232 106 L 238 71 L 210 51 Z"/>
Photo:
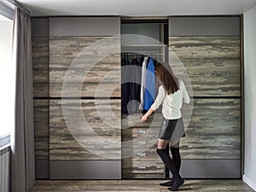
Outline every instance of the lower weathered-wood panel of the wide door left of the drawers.
<path fill-rule="evenodd" d="M 120 100 L 50 100 L 49 106 L 50 160 L 120 159 Z"/>

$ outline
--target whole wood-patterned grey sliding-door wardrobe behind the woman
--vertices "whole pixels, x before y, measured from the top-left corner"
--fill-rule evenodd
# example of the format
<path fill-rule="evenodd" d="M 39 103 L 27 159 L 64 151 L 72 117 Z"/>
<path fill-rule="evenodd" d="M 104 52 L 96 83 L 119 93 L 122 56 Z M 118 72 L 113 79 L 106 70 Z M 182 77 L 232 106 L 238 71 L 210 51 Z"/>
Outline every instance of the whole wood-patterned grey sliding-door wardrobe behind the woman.
<path fill-rule="evenodd" d="M 32 18 L 36 176 L 172 177 L 155 152 L 160 110 L 147 123 L 122 113 L 122 59 L 147 55 L 191 96 L 183 177 L 240 178 L 241 28 L 240 15 Z"/>

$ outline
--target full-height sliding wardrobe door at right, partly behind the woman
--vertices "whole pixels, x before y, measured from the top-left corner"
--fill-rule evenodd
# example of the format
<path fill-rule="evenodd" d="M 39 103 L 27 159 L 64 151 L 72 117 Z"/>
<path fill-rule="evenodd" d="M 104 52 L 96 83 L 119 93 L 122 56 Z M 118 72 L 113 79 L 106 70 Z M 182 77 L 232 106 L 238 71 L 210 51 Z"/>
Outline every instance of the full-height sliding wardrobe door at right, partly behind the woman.
<path fill-rule="evenodd" d="M 193 92 L 183 177 L 241 177 L 240 38 L 240 16 L 169 19 L 170 63 Z"/>

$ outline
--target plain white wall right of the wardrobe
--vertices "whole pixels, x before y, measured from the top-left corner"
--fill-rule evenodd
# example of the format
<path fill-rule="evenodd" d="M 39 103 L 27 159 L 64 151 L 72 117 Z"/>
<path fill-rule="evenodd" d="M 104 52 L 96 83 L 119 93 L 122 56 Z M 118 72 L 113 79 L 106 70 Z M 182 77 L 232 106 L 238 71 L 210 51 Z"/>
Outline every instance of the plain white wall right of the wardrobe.
<path fill-rule="evenodd" d="M 245 170 L 243 180 L 256 190 L 256 7 L 244 14 Z"/>

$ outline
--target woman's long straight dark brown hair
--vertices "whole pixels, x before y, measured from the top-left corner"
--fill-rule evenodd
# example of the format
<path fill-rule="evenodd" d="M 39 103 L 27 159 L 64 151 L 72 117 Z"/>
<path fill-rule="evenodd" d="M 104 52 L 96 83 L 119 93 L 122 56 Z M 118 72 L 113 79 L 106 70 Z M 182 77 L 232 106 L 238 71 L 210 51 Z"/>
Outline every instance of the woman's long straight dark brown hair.
<path fill-rule="evenodd" d="M 155 74 L 160 79 L 164 86 L 167 95 L 175 93 L 179 90 L 179 83 L 177 77 L 172 73 L 170 65 L 164 62 L 154 62 Z"/>

